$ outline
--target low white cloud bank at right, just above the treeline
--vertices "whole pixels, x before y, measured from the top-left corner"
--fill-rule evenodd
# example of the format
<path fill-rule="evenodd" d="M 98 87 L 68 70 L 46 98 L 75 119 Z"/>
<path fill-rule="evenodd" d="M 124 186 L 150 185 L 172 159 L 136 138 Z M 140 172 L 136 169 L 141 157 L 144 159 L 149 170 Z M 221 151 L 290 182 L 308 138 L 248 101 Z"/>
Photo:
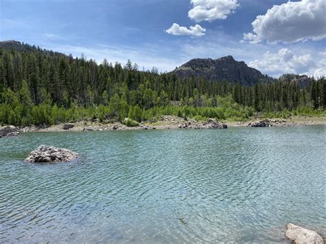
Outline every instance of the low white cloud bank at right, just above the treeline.
<path fill-rule="evenodd" d="M 318 60 L 318 58 L 320 58 Z M 314 60 L 318 60 L 315 62 Z M 293 54 L 290 49 L 282 48 L 276 53 L 265 52 L 263 58 L 249 63 L 250 67 L 274 77 L 281 74 L 307 74 L 309 76 L 325 76 L 326 54 L 320 53 L 312 58 L 312 54 Z"/>

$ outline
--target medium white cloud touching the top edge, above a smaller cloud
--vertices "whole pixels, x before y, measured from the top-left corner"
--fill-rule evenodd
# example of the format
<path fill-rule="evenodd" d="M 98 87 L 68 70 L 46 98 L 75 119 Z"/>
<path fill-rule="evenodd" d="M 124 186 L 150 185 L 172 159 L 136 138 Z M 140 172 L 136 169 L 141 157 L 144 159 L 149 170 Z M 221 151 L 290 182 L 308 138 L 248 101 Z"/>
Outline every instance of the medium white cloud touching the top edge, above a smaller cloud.
<path fill-rule="evenodd" d="M 191 0 L 193 8 L 189 10 L 189 18 L 200 21 L 226 19 L 239 7 L 237 0 Z"/>

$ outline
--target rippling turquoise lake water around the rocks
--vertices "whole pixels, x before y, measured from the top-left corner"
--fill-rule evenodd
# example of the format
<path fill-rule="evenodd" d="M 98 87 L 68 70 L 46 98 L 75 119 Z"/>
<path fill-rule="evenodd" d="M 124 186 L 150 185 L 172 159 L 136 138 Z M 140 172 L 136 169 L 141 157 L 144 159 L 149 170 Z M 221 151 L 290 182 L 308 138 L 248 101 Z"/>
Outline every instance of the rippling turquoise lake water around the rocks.
<path fill-rule="evenodd" d="M 325 236 L 325 129 L 1 138 L 0 243 L 287 242 L 289 222 Z M 40 144 L 80 157 L 23 163 Z"/>

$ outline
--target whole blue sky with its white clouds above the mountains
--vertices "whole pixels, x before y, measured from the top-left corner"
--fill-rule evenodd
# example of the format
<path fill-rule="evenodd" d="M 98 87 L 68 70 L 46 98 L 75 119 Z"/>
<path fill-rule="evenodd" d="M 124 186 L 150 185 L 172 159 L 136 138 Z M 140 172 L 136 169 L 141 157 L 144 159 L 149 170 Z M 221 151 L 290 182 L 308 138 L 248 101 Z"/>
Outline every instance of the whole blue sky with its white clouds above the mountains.
<path fill-rule="evenodd" d="M 104 58 L 122 64 L 131 59 L 144 69 L 171 71 L 191 58 L 232 55 L 270 76 L 325 75 L 325 0 L 1 0 L 0 4 L 1 40 L 74 56 L 83 53 L 98 63 Z M 253 27 L 259 15 L 263 19 Z M 177 25 L 169 30 L 173 23 Z M 191 30 L 195 25 L 199 27 Z"/>

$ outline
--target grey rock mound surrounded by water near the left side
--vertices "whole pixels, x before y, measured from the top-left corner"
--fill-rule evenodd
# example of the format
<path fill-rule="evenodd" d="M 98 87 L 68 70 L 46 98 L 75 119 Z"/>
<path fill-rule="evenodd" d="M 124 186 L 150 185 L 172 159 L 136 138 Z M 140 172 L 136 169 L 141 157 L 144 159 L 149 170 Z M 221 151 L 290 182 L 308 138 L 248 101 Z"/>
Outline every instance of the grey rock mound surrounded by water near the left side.
<path fill-rule="evenodd" d="M 50 162 L 71 162 L 76 159 L 77 153 L 65 148 L 55 148 L 54 146 L 39 146 L 32 151 L 24 162 L 30 163 L 50 163 Z"/>

